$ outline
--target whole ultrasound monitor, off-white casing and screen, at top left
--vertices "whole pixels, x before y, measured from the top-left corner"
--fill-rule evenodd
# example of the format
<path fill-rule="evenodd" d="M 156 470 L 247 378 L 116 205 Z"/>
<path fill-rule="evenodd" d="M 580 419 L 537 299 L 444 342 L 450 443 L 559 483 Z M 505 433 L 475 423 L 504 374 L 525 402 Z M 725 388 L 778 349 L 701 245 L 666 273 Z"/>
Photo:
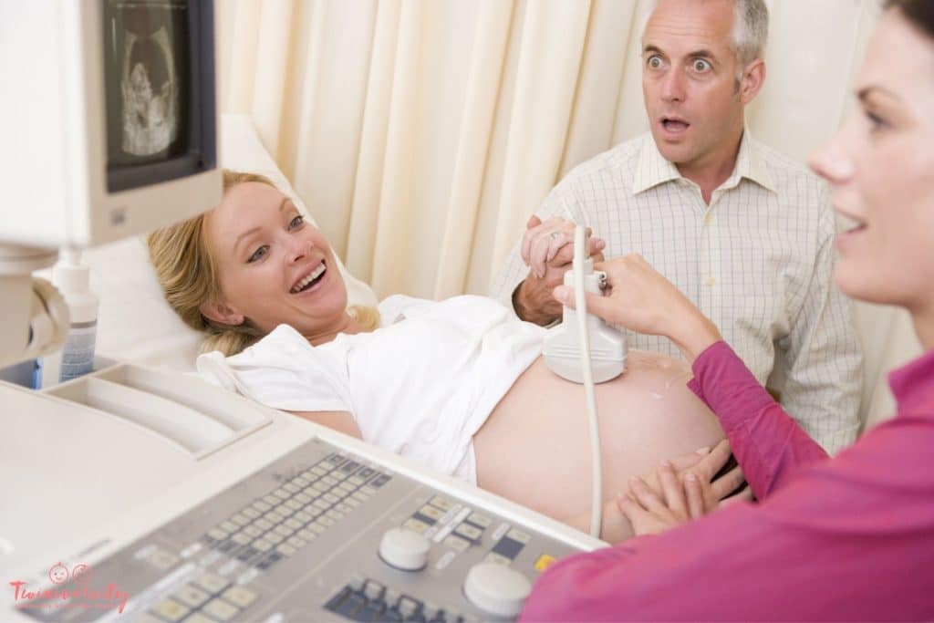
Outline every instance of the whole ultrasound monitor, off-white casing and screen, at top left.
<path fill-rule="evenodd" d="M 220 198 L 213 5 L 0 0 L 0 243 L 88 246 Z"/>

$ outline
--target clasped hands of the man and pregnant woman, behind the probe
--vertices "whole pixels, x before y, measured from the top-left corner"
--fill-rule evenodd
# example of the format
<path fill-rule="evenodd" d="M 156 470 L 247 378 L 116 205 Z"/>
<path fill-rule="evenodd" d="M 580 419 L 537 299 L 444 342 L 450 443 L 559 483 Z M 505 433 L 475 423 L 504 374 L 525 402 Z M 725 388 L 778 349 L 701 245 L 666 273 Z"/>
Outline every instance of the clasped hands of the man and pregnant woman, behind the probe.
<path fill-rule="evenodd" d="M 573 261 L 574 223 L 553 217 L 542 222 L 532 216 L 522 236 L 522 261 L 529 266 L 529 275 L 513 292 L 513 307 L 519 318 L 537 324 L 548 324 L 561 315 L 561 304 L 551 292 L 564 282 L 564 274 Z M 595 262 L 602 262 L 600 238 L 590 235 L 587 228 L 588 250 Z"/>

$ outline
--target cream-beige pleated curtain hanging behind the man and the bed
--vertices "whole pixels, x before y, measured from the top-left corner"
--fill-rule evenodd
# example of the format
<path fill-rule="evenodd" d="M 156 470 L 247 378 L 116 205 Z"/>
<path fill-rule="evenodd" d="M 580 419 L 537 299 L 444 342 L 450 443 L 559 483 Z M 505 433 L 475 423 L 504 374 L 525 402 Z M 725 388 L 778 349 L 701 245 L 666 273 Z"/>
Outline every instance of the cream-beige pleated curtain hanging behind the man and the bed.
<path fill-rule="evenodd" d="M 771 0 L 755 135 L 803 159 L 852 106 L 876 0 Z M 219 0 L 221 107 L 247 112 L 377 294 L 485 293 L 574 165 L 644 132 L 644 0 Z M 910 327 L 860 306 L 865 408 Z M 899 345 L 893 347 L 893 345 Z M 874 418 L 875 412 L 870 414 Z"/>

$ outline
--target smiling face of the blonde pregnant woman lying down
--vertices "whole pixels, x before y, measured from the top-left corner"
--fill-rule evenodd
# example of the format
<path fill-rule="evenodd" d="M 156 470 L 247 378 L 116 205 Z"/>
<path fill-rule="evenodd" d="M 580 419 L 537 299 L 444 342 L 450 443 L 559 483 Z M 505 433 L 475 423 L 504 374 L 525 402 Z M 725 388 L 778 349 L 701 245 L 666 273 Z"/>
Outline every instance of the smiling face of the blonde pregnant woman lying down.
<path fill-rule="evenodd" d="M 289 324 L 313 343 L 347 322 L 347 289 L 323 234 L 288 197 L 262 182 L 237 184 L 205 221 L 221 300 L 202 306 L 224 324 L 262 333 Z"/>

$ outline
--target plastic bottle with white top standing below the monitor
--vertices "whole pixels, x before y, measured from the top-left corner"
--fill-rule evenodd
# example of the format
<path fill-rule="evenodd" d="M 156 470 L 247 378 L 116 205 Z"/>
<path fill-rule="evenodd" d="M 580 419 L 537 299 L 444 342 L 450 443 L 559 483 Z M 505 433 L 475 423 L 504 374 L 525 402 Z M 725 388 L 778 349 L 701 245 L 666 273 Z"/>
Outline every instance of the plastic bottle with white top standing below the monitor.
<path fill-rule="evenodd" d="M 62 249 L 62 258 L 52 269 L 52 283 L 68 305 L 70 326 L 62 350 L 42 358 L 41 386 L 86 375 L 92 370 L 97 341 L 97 296 L 91 291 L 88 267 L 80 262 L 80 251 Z"/>

